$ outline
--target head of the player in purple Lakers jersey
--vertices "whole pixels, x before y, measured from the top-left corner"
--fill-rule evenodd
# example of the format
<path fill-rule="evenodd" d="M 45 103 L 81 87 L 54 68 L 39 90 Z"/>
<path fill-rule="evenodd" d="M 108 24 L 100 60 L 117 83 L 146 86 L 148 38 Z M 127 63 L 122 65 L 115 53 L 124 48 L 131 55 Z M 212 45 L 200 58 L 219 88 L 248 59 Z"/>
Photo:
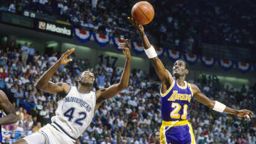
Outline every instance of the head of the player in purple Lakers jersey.
<path fill-rule="evenodd" d="M 188 70 L 186 69 L 186 63 L 182 60 L 177 60 L 176 62 L 174 62 L 173 74 L 174 77 L 188 74 Z"/>

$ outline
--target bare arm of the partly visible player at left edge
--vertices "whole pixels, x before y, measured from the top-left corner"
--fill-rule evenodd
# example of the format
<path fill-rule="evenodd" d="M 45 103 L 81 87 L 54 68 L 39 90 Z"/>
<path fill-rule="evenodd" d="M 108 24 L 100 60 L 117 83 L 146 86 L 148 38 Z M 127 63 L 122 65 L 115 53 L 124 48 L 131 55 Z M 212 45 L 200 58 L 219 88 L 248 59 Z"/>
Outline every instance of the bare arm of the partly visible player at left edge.
<path fill-rule="evenodd" d="M 0 125 L 7 125 L 11 123 L 16 123 L 18 121 L 18 116 L 14 106 L 8 100 L 6 94 L 0 90 L 0 109 L 4 110 L 6 116 L 0 118 Z"/>

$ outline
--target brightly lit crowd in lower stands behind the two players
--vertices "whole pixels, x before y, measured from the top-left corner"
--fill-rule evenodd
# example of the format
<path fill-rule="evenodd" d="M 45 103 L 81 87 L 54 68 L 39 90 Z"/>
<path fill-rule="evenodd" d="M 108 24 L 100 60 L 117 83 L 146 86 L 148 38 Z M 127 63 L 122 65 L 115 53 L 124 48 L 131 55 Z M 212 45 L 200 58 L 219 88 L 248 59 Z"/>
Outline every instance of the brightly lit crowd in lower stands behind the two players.
<path fill-rule="evenodd" d="M 33 45 L 27 43 L 16 47 L 14 41 L 8 48 L 0 49 L 0 87 L 16 107 L 18 115 L 17 123 L 1 127 L 4 143 L 14 143 L 50 123 L 58 106 L 58 94 L 41 92 L 34 84 L 58 60 L 60 53 L 49 56 L 35 52 L 32 58 L 24 59 L 21 55 L 26 49 L 28 54 L 35 51 Z M 77 86 L 75 79 L 83 70 L 95 74 L 93 90 L 109 87 L 118 82 L 122 74 L 122 70 L 102 63 L 94 67 L 89 60 L 74 60 L 60 67 L 51 81 Z M 234 109 L 250 109 L 256 113 L 256 85 L 240 89 L 223 87 L 217 77 L 205 75 L 189 82 L 198 85 L 210 99 Z M 154 143 L 156 131 L 161 126 L 159 86 L 157 77 L 149 77 L 142 70 L 132 70 L 129 87 L 100 106 L 78 143 Z M 191 102 L 190 114 L 189 121 L 198 144 L 256 143 L 255 117 L 250 122 L 244 121 L 243 118 L 212 111 L 195 100 Z"/>

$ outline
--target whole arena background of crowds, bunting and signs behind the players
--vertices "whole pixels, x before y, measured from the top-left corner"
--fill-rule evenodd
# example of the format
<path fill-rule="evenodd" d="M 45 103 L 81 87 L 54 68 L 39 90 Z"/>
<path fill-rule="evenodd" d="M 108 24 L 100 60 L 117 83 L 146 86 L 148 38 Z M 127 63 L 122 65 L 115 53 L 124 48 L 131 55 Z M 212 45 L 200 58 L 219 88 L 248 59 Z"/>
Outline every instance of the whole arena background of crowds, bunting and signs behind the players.
<path fill-rule="evenodd" d="M 41 92 L 36 80 L 63 52 L 74 61 L 60 67 L 53 82 L 77 86 L 80 72 L 95 74 L 94 90 L 119 82 L 125 57 L 121 38 L 132 41 L 129 87 L 105 101 L 77 143 L 155 143 L 161 126 L 159 87 L 137 31 L 127 21 L 138 1 L 1 0 L 0 87 L 19 116 L 2 126 L 4 143 L 50 123 L 58 95 Z M 171 70 L 175 60 L 190 65 L 187 81 L 234 109 L 256 106 L 256 1 L 149 1 L 154 20 L 146 34 Z M 256 143 L 256 121 L 217 113 L 192 101 L 196 143 Z"/>

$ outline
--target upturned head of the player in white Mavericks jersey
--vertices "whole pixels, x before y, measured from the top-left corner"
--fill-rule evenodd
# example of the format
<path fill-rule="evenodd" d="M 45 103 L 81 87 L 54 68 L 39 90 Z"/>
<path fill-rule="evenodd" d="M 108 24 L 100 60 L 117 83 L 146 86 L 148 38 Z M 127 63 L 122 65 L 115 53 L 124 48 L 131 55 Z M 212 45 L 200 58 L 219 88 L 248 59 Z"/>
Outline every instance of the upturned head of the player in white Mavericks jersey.
<path fill-rule="evenodd" d="M 82 72 L 82 74 L 78 78 L 78 82 L 80 82 L 80 84 L 87 86 L 92 86 L 94 81 L 95 76 L 94 74 L 92 74 L 92 72 L 89 71 Z"/>

